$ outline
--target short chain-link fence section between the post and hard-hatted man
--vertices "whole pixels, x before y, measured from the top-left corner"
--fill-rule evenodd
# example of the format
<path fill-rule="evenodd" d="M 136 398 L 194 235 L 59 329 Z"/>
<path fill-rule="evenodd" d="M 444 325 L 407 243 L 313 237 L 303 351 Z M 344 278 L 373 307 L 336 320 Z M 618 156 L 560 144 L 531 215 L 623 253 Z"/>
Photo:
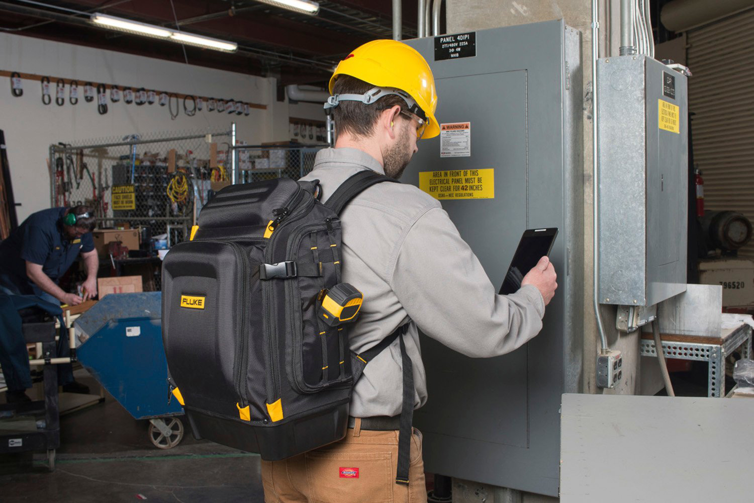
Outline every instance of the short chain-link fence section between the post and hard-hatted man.
<path fill-rule="evenodd" d="M 314 157 L 326 145 L 317 146 L 236 146 L 238 183 L 287 177 L 299 179 L 314 169 Z"/>

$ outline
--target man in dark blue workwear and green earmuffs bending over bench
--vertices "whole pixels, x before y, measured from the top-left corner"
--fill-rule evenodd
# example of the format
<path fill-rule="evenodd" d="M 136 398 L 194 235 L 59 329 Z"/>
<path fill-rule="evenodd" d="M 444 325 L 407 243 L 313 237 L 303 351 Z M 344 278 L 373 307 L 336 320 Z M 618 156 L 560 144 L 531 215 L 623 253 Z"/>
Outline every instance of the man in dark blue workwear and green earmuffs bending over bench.
<path fill-rule="evenodd" d="M 0 243 L 0 296 L 35 295 L 54 305 L 77 305 L 96 296 L 100 263 L 91 235 L 95 225 L 93 213 L 86 206 L 32 213 Z M 82 296 L 66 293 L 57 285 L 79 253 L 87 270 Z M 3 308 L 8 305 L 2 302 Z M 69 356 L 67 339 L 57 348 L 57 357 Z M 8 403 L 30 400 L 25 392 L 32 387 L 28 357 L 23 334 L 0 328 L 0 365 L 8 385 Z M 63 391 L 89 392 L 87 386 L 73 380 L 70 363 L 58 365 L 58 384 Z"/>

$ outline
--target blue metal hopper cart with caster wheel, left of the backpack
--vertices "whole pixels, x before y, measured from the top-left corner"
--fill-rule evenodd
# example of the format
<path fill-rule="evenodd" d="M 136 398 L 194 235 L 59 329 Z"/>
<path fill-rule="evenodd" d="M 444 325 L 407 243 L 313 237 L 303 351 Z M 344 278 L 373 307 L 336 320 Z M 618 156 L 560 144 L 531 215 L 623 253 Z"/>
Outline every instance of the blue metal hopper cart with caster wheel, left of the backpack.
<path fill-rule="evenodd" d="M 78 360 L 135 419 L 148 419 L 149 440 L 178 445 L 183 409 L 170 399 L 162 345 L 162 294 L 112 293 L 74 323 Z"/>

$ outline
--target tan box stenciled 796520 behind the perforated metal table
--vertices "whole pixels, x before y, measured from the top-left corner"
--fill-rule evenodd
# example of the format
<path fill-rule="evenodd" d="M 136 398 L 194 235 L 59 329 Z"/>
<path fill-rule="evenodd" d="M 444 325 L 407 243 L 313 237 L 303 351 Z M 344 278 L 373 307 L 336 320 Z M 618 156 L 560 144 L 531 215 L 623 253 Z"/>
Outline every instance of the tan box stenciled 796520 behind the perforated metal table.
<path fill-rule="evenodd" d="M 751 260 L 700 260 L 699 282 L 722 286 L 724 308 L 754 305 L 754 262 Z"/>

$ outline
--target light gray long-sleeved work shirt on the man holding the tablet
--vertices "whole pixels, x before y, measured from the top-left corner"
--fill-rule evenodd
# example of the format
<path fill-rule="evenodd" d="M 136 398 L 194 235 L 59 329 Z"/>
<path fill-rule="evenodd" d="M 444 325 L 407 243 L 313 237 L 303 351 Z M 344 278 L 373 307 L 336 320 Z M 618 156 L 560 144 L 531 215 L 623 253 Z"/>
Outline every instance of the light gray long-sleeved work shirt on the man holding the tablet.
<path fill-rule="evenodd" d="M 360 170 L 385 173 L 358 149 L 324 149 L 314 170 L 321 201 Z M 353 351 L 365 351 L 410 322 L 406 351 L 413 363 L 418 408 L 427 401 L 418 328 L 470 357 L 493 357 L 519 348 L 542 327 L 544 301 L 532 285 L 501 296 L 461 239 L 440 202 L 415 186 L 379 183 L 357 195 L 341 214 L 342 281 L 364 295 L 350 327 Z M 351 416 L 397 416 L 403 388 L 400 345 L 394 342 L 366 366 L 354 388 Z"/>

